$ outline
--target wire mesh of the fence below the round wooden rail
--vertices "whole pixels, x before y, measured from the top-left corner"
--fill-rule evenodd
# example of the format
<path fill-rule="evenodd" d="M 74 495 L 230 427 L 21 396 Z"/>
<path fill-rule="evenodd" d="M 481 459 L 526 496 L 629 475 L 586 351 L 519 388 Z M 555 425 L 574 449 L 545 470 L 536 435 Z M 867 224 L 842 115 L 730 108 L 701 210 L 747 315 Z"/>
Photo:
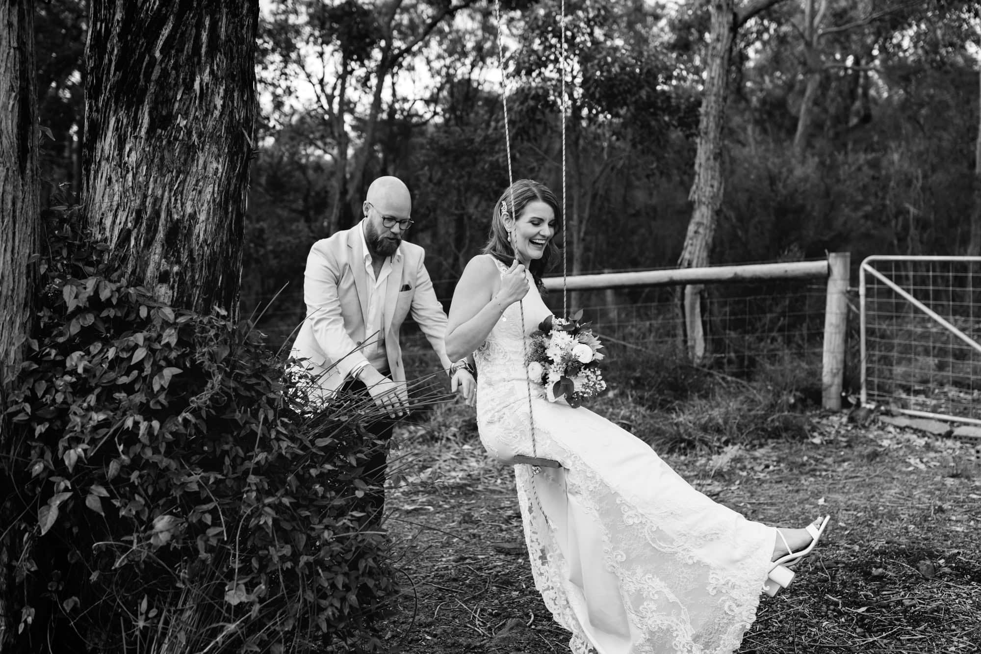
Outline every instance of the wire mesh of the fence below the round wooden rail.
<path fill-rule="evenodd" d="M 437 287 L 440 288 L 439 284 Z M 820 383 L 826 285 L 816 281 L 775 281 L 756 284 L 707 285 L 706 367 L 741 378 L 759 378 L 775 368 L 806 370 Z M 604 341 L 610 364 L 624 357 L 683 356 L 682 318 L 672 287 L 580 291 L 569 294 L 570 308 L 582 308 Z M 275 301 L 249 297 L 243 306 L 261 317 L 257 325 L 274 349 L 288 352 L 304 316 L 301 291 L 284 292 Z M 450 298 L 439 298 L 444 307 Z M 562 293 L 551 292 L 545 303 L 562 312 Z M 402 328 L 403 353 L 409 374 L 428 374 L 439 366 L 419 329 L 407 321 Z"/>

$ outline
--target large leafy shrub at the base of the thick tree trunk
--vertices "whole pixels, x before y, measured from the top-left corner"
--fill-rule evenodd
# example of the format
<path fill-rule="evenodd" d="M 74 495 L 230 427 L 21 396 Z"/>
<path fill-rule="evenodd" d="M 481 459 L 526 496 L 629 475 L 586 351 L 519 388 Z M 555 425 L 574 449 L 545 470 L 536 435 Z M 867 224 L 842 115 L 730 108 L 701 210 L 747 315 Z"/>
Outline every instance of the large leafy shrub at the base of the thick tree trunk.
<path fill-rule="evenodd" d="M 357 511 L 374 405 L 306 410 L 248 322 L 163 305 L 57 229 L 5 389 L 15 651 L 380 649 L 398 589 Z"/>

